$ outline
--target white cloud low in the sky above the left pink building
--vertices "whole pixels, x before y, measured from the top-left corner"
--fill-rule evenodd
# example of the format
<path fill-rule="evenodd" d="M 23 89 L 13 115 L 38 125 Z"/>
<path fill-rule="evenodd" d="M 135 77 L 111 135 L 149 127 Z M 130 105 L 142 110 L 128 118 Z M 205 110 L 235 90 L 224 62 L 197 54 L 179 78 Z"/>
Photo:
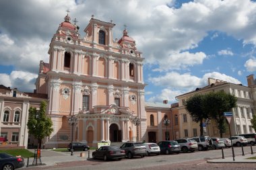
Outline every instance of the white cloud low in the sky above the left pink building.
<path fill-rule="evenodd" d="M 36 74 L 24 71 L 12 71 L 10 75 L 0 74 L 0 84 L 6 87 L 18 88 L 20 91 L 32 92 L 35 89 Z"/>

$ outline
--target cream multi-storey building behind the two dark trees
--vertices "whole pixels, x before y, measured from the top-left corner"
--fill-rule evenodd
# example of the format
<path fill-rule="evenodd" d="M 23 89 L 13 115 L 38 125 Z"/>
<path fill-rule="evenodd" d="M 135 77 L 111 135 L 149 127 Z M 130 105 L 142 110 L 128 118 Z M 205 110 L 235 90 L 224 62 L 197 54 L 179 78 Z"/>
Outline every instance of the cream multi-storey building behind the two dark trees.
<path fill-rule="evenodd" d="M 202 88 L 197 88 L 195 91 L 185 93 L 177 96 L 179 100 L 179 121 L 180 121 L 180 134 L 181 137 L 192 137 L 199 135 L 199 123 L 193 121 L 193 118 L 185 110 L 184 103 L 186 99 L 195 94 L 205 94 L 210 91 L 225 91 L 226 93 L 233 94 L 237 97 L 237 107 L 232 109 L 232 119 L 230 122 L 230 129 L 232 136 L 236 134 L 246 134 L 255 132 L 251 126 L 251 119 L 255 114 L 255 99 L 256 99 L 256 79 L 253 75 L 247 77 L 248 87 L 241 84 L 228 83 L 218 79 L 208 79 L 208 85 Z M 220 132 L 214 120 L 204 123 L 204 133 L 209 136 L 220 136 Z M 224 136 L 230 136 L 227 131 Z"/>

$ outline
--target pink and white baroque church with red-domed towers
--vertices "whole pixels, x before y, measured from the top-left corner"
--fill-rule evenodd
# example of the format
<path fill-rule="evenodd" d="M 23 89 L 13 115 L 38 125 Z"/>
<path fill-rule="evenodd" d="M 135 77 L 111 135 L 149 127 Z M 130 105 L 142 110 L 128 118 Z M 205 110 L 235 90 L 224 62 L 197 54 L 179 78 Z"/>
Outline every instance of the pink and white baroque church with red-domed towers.
<path fill-rule="evenodd" d="M 145 102 L 142 52 L 126 29 L 113 40 L 114 26 L 92 15 L 82 37 L 67 14 L 53 35 L 49 62 L 40 61 L 35 83 L 36 93 L 48 95 L 53 120 L 54 132 L 44 148 L 66 147 L 72 134 L 90 146 L 170 136 L 170 127 L 163 124 L 164 118 L 171 119 L 170 105 Z M 77 120 L 74 127 L 71 116 Z"/>

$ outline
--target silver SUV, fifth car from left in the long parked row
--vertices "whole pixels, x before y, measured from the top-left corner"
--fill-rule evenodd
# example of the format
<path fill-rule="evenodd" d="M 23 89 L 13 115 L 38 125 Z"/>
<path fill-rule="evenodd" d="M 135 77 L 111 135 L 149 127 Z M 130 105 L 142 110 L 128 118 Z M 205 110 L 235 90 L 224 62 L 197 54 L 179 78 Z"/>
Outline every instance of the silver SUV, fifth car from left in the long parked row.
<path fill-rule="evenodd" d="M 180 138 L 176 141 L 179 145 L 181 145 L 181 151 L 183 153 L 187 153 L 188 151 L 193 153 L 195 149 L 198 148 L 197 141 L 193 140 L 192 138 Z"/>

